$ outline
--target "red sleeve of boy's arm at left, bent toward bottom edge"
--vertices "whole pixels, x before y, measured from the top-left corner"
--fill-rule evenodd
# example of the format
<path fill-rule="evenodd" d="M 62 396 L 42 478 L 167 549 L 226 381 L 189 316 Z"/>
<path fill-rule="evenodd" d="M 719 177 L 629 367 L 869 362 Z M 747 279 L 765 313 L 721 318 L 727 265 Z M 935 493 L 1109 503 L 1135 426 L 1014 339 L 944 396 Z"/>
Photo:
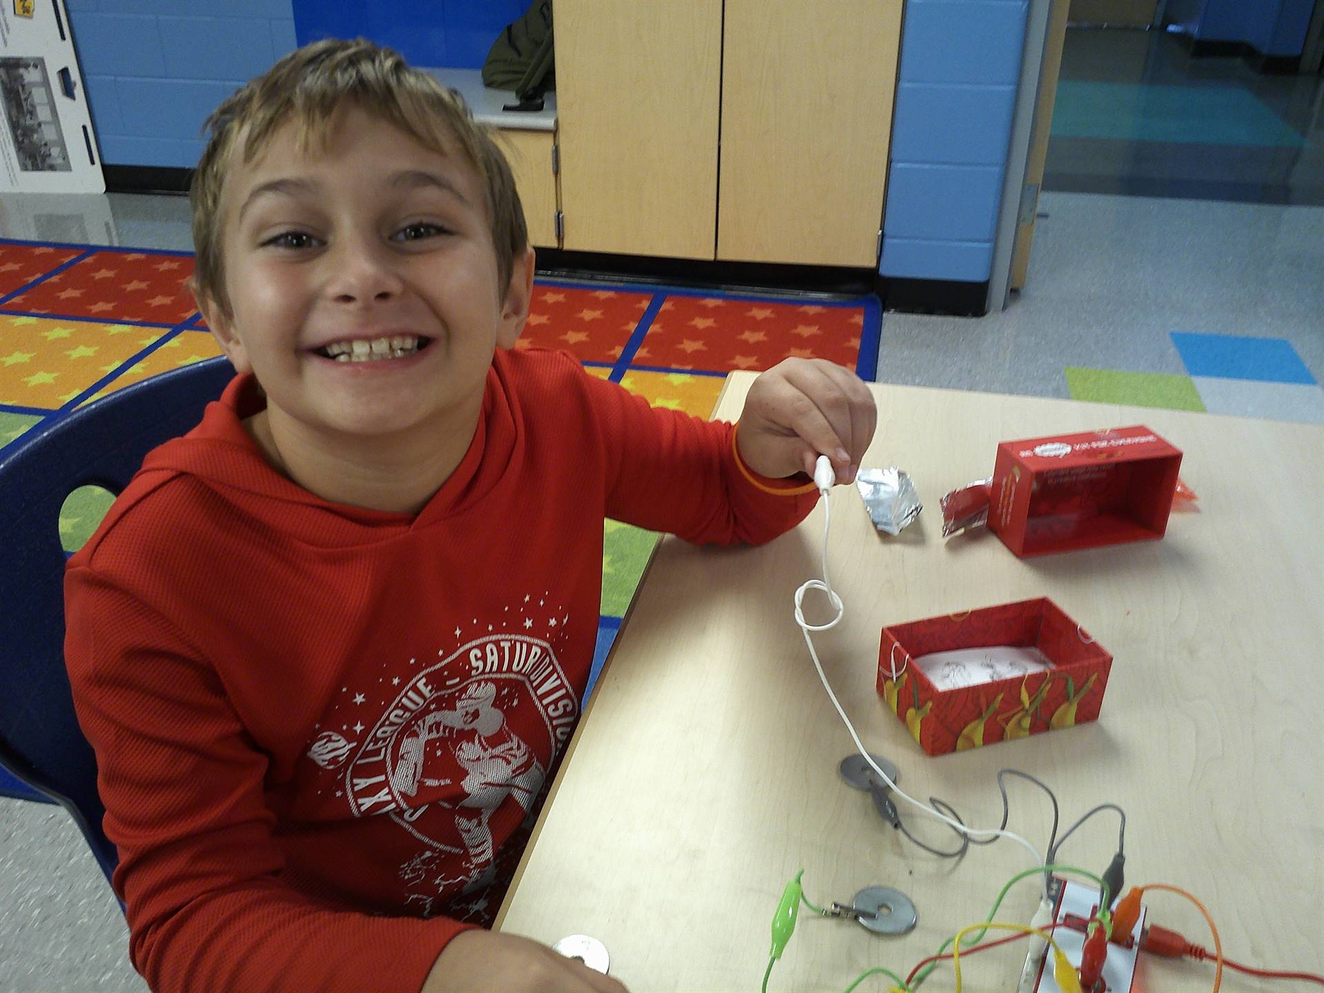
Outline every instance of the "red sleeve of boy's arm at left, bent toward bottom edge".
<path fill-rule="evenodd" d="M 368 916 L 285 886 L 266 757 L 216 673 L 91 568 L 65 579 L 65 661 L 97 752 L 135 968 L 158 993 L 416 993 L 463 925 Z M 279 706 L 273 702 L 273 706 Z"/>

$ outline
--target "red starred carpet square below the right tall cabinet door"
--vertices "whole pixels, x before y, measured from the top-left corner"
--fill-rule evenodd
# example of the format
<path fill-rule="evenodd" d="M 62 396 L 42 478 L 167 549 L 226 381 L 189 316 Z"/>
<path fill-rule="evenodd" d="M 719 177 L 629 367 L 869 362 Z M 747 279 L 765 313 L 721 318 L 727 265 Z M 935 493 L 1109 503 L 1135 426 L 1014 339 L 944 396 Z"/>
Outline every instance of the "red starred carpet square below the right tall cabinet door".
<path fill-rule="evenodd" d="M 854 368 L 863 326 L 863 307 L 667 297 L 632 365 L 730 372 L 798 356 Z"/>

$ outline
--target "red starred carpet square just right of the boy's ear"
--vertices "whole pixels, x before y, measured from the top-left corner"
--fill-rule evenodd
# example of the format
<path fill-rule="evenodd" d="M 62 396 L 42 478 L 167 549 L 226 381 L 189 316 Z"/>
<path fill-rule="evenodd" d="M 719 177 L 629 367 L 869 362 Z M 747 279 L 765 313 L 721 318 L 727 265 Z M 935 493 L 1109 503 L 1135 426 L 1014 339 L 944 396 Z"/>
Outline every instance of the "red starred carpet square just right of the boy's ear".
<path fill-rule="evenodd" d="M 580 361 L 616 361 L 653 299 L 625 290 L 535 286 L 528 324 L 516 347 L 560 348 Z"/>

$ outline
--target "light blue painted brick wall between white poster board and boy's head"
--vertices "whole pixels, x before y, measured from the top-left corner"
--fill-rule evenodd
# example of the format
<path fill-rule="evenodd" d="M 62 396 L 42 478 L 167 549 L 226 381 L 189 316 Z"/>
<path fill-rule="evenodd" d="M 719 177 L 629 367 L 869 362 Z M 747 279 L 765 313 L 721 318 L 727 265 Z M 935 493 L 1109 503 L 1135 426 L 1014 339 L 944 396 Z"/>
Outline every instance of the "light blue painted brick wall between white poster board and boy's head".
<path fill-rule="evenodd" d="M 192 167 L 216 105 L 297 46 L 293 0 L 66 0 L 101 158 Z"/>

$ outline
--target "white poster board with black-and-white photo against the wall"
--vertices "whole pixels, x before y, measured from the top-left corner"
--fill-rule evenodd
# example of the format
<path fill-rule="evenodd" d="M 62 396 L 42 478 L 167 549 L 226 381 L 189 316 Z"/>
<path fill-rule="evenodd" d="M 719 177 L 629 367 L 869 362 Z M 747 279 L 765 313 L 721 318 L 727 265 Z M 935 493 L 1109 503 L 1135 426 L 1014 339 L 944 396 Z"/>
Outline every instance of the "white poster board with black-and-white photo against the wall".
<path fill-rule="evenodd" d="M 0 0 L 0 192 L 106 192 L 64 0 Z"/>

